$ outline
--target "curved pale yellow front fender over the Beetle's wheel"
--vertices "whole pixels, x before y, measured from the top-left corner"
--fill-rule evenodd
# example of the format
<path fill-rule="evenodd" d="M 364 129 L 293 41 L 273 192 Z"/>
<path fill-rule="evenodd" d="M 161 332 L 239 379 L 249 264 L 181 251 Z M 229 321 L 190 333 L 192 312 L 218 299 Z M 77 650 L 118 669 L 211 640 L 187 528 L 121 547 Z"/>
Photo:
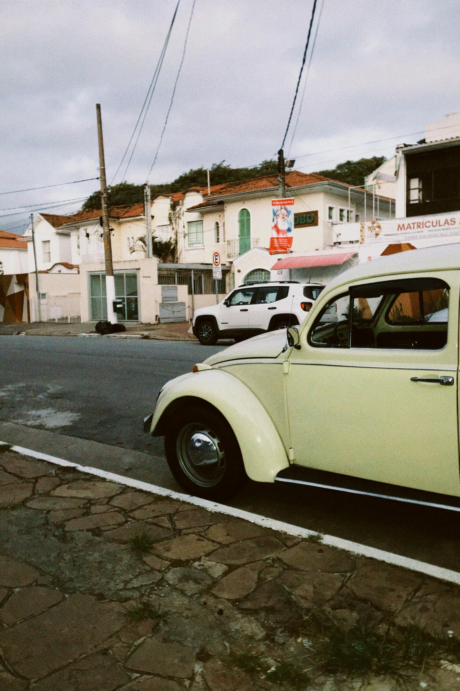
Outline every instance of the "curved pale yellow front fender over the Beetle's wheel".
<path fill-rule="evenodd" d="M 251 480 L 274 482 L 289 466 L 285 448 L 267 410 L 239 379 L 221 370 L 202 370 L 172 379 L 164 387 L 151 424 L 151 435 L 163 432 L 169 415 L 187 401 L 202 399 L 227 419 L 233 429 Z M 169 412 L 170 411 L 170 412 Z M 160 434 L 159 434 L 160 433 Z"/>

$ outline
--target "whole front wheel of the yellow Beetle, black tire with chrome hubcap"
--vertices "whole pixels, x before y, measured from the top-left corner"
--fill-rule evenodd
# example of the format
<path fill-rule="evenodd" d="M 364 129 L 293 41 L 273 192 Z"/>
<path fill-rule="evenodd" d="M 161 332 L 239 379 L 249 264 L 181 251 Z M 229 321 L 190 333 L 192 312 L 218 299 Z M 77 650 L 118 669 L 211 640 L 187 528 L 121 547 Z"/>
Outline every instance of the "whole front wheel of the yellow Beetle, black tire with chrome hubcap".
<path fill-rule="evenodd" d="M 227 500 L 247 479 L 236 436 L 215 408 L 198 404 L 174 413 L 164 451 L 171 473 L 189 494 Z"/>

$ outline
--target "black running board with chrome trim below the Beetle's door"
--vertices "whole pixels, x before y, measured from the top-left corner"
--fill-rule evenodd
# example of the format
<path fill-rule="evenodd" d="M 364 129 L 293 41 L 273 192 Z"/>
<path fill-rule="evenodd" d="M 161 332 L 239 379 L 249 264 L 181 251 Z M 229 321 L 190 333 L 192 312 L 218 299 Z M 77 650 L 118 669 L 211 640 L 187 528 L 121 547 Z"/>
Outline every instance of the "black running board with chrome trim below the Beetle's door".
<path fill-rule="evenodd" d="M 351 475 L 318 471 L 315 468 L 291 465 L 289 468 L 280 471 L 276 475 L 275 481 L 303 484 L 309 487 L 317 487 L 318 489 L 333 489 L 337 492 L 361 494 L 376 499 L 390 499 L 395 502 L 419 504 L 423 507 L 447 509 L 448 511 L 460 513 L 460 498 L 457 497 L 410 489 L 409 487 L 386 484 L 385 482 L 363 480 L 361 477 L 352 477 Z"/>

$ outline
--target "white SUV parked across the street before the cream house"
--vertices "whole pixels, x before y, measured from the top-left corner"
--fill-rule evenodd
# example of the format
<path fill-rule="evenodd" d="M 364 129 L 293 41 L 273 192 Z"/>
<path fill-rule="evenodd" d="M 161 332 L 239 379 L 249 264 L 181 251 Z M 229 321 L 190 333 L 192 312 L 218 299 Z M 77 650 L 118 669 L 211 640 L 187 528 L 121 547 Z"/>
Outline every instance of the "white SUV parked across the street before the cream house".
<path fill-rule="evenodd" d="M 218 305 L 195 310 L 193 334 L 202 345 L 213 345 L 218 339 L 242 341 L 301 324 L 323 288 L 298 281 L 245 283 Z"/>

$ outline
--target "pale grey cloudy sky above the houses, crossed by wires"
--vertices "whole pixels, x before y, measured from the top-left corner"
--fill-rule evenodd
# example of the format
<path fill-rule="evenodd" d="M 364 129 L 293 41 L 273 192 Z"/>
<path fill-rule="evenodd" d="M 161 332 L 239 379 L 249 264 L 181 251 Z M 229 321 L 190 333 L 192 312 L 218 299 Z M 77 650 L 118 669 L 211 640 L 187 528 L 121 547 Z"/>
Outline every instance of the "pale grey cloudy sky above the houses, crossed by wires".
<path fill-rule="evenodd" d="M 23 231 L 24 211 L 12 207 L 61 205 L 50 211 L 67 214 L 96 189 L 97 180 L 3 193 L 97 176 L 97 102 L 111 182 L 176 1 L 0 0 L 1 228 Z M 274 156 L 312 1 L 195 0 L 152 183 L 221 160 L 250 166 Z M 180 1 L 126 173 L 130 182 L 144 182 L 155 157 L 192 3 Z M 314 171 L 347 158 L 390 156 L 395 144 L 422 138 L 427 122 L 460 111 L 457 0 L 318 0 L 317 18 L 322 4 L 303 108 L 294 141 L 292 127 L 285 146 L 296 168 Z M 296 118 L 297 111 L 293 125 Z M 114 182 L 123 173 L 124 167 Z"/>

